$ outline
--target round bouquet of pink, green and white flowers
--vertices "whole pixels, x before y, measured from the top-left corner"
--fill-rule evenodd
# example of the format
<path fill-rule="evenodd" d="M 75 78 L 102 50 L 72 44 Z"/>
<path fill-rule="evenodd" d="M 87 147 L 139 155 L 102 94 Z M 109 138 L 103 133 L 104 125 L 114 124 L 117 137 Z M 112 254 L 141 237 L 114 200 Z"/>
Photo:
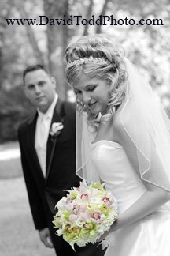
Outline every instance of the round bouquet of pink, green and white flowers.
<path fill-rule="evenodd" d="M 63 235 L 73 250 L 75 243 L 79 247 L 95 243 L 117 218 L 116 200 L 105 190 L 104 183 L 87 186 L 83 180 L 78 188 L 68 190 L 56 207 L 53 221 L 58 228 L 56 233 Z"/>

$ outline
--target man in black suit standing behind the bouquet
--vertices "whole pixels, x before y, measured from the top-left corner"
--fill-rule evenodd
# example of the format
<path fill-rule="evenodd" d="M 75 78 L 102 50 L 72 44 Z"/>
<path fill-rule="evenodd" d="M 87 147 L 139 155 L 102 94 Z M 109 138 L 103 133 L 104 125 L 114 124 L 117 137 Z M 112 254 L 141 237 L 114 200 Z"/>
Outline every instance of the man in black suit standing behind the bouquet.
<path fill-rule="evenodd" d="M 20 125 L 18 138 L 24 179 L 35 228 L 57 256 L 102 256 L 101 247 L 76 247 L 76 253 L 52 224 L 54 207 L 65 190 L 79 186 L 76 176 L 76 106 L 62 101 L 54 77 L 42 66 L 24 70 L 24 92 L 35 115 Z"/>

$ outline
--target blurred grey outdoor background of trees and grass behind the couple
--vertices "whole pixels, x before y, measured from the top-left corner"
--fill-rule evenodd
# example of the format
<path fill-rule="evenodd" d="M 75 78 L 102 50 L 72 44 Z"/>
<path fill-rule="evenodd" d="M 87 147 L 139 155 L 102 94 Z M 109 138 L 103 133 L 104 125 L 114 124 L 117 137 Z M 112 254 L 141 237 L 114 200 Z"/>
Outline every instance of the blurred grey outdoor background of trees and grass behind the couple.
<path fill-rule="evenodd" d="M 97 19 L 161 19 L 164 25 L 8 25 L 6 19 L 67 19 L 81 15 Z M 63 57 L 74 37 L 106 33 L 123 45 L 127 58 L 150 81 L 170 114 L 169 0 L 1 0 L 0 2 L 0 255 L 54 255 L 43 247 L 33 227 L 20 167 L 17 127 L 34 109 L 24 96 L 22 72 L 44 64 L 57 81 L 63 99 L 74 100 L 66 84 Z M 44 18 L 44 22 L 46 18 Z"/>

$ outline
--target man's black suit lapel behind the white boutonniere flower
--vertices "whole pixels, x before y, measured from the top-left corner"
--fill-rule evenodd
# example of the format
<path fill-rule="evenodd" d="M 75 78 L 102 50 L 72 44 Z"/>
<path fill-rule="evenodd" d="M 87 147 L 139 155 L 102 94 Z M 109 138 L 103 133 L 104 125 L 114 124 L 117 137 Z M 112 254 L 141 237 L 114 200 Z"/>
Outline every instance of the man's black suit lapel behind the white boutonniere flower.
<path fill-rule="evenodd" d="M 63 122 L 62 117 L 64 115 L 65 115 L 65 110 L 64 110 L 63 101 L 58 98 L 56 107 L 54 109 L 54 115 L 53 115 L 50 127 L 52 126 L 52 124 L 54 122 Z M 57 139 L 57 137 L 56 137 L 56 139 Z M 52 163 L 52 160 L 54 157 L 53 147 L 55 147 L 55 144 L 56 143 L 54 141 L 52 141 L 52 137 L 49 134 L 47 145 L 46 145 L 46 180 L 48 179 L 49 172 L 50 172 L 49 164 Z"/>

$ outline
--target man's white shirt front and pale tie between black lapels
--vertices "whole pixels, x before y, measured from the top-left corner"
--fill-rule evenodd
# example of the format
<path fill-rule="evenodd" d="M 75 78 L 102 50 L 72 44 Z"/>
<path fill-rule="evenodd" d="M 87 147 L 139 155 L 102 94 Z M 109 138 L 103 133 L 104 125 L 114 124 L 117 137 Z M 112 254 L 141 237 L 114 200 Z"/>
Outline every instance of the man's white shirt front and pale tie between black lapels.
<path fill-rule="evenodd" d="M 39 158 L 39 164 L 42 168 L 42 173 L 46 177 L 46 143 L 50 133 L 51 120 L 54 114 L 54 108 L 57 104 L 57 94 L 54 97 L 53 103 L 50 105 L 46 113 L 38 111 L 38 118 L 35 130 L 35 149 Z"/>

